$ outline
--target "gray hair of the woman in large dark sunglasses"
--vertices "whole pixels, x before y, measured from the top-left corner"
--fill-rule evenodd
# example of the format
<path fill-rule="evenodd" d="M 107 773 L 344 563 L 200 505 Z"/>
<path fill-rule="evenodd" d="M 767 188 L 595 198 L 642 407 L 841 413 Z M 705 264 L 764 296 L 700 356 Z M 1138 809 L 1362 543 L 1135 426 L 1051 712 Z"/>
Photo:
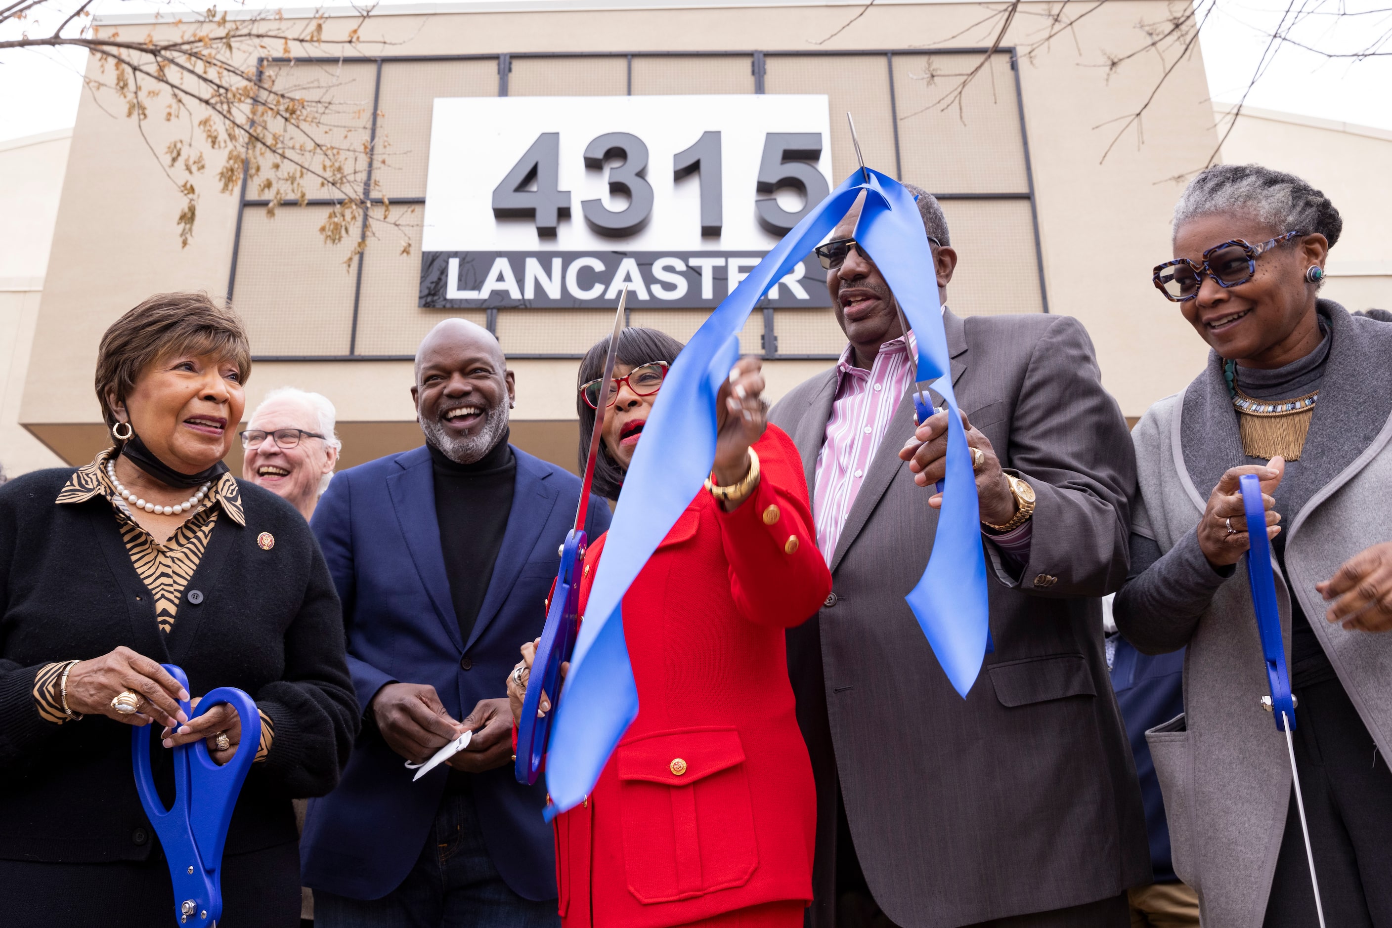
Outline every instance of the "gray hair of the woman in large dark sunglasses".
<path fill-rule="evenodd" d="M 1295 174 L 1260 164 L 1215 164 L 1189 182 L 1175 205 L 1171 234 L 1192 218 L 1214 213 L 1242 213 L 1274 235 L 1320 232 L 1332 248 L 1343 231 L 1343 218 L 1321 191 Z"/>

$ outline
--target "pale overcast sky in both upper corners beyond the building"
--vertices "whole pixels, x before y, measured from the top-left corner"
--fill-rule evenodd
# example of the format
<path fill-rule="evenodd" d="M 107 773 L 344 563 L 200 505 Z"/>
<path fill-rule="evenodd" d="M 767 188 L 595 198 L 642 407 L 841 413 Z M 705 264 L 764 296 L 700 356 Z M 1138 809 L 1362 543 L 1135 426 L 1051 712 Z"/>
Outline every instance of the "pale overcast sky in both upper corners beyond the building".
<path fill-rule="evenodd" d="M 290 0 L 287 7 L 298 7 L 301 1 Z M 63 0 L 61 6 L 68 4 Z M 132 13 L 138 6 L 150 4 L 96 3 L 97 11 L 106 13 Z M 1283 15 L 1300 15 L 1296 36 L 1303 43 L 1350 54 L 1366 51 L 1370 36 L 1392 39 L 1389 6 L 1388 0 L 1217 0 L 1201 39 L 1208 90 L 1214 100 L 1239 99 L 1258 74 L 1270 32 Z M 1338 10 L 1346 15 L 1336 15 Z M 40 19 L 26 28 L 38 35 L 43 25 L 52 29 L 54 24 Z M 0 36 L 10 38 L 10 31 Z M 1381 57 L 1361 60 L 1331 60 L 1282 45 L 1267 56 L 1247 104 L 1392 131 L 1392 40 L 1388 39 L 1379 49 Z M 71 127 L 82 93 L 84 61 L 85 53 L 72 50 L 0 51 L 0 141 Z"/>

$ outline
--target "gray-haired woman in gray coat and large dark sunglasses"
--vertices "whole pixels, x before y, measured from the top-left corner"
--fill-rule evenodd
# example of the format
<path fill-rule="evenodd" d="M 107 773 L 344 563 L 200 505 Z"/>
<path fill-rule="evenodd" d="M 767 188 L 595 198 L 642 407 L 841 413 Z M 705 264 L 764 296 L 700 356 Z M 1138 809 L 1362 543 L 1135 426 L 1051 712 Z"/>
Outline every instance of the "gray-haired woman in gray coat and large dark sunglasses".
<path fill-rule="evenodd" d="M 1318 299 L 1342 221 L 1254 164 L 1200 174 L 1155 285 L 1212 348 L 1133 431 L 1140 499 L 1116 625 L 1187 646 L 1148 732 L 1175 872 L 1205 925 L 1315 925 L 1286 744 L 1247 589 L 1237 477 L 1263 480 L 1300 772 L 1329 925 L 1392 925 L 1392 326 Z"/>

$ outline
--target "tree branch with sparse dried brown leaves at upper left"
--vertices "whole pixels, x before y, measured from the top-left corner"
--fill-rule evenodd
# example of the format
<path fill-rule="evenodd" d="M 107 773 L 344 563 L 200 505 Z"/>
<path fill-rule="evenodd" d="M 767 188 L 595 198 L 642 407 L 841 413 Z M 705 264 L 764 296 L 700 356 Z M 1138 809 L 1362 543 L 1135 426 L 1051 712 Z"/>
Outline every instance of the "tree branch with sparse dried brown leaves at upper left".
<path fill-rule="evenodd" d="M 0 7 L 0 51 L 88 51 L 88 90 L 103 109 L 104 100 L 125 103 L 125 117 L 135 121 L 142 142 L 182 196 L 178 228 L 185 246 L 193 234 L 199 178 L 210 167 L 210 154 L 223 159 L 214 173 L 220 191 L 235 193 L 244 178 L 255 181 L 256 199 L 270 202 L 270 216 L 287 200 L 305 205 L 317 188 L 316 195 L 333 202 L 320 235 L 331 245 L 351 242 L 349 267 L 366 235 L 374 235 L 373 221 L 401 230 L 390 203 L 384 198 L 373 202 L 366 181 L 372 166 L 383 163 L 384 149 L 380 139 L 367 139 L 372 97 L 342 99 L 348 81 L 342 65 L 373 60 L 361 38 L 372 7 L 335 19 L 330 32 L 322 13 L 285 19 L 278 10 L 234 17 L 214 7 L 184 18 L 175 15 L 177 0 L 164 0 L 167 11 L 149 26 L 136 26 L 146 29 L 145 35 L 122 38 L 121 26 L 92 24 L 95 0 L 68 1 L 77 6 L 13 0 Z M 54 17 L 57 28 L 45 29 L 42 36 L 25 32 L 22 24 L 35 25 L 43 13 Z M 295 65 L 296 54 L 323 57 L 326 50 L 337 56 L 337 68 Z M 156 104 L 163 107 L 164 122 L 185 127 L 163 156 L 145 125 Z M 402 239 L 409 252 L 404 231 Z"/>

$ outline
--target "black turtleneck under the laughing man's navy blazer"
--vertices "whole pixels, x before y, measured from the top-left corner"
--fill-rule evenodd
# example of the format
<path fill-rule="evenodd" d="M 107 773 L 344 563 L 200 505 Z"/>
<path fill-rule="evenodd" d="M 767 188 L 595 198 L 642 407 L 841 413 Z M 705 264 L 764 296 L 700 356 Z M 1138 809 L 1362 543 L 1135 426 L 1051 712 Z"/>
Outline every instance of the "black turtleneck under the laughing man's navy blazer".
<path fill-rule="evenodd" d="M 470 465 L 450 461 L 434 445 L 429 448 L 450 598 L 459 619 L 459 639 L 468 644 L 508 527 L 518 462 L 507 433 Z"/>

